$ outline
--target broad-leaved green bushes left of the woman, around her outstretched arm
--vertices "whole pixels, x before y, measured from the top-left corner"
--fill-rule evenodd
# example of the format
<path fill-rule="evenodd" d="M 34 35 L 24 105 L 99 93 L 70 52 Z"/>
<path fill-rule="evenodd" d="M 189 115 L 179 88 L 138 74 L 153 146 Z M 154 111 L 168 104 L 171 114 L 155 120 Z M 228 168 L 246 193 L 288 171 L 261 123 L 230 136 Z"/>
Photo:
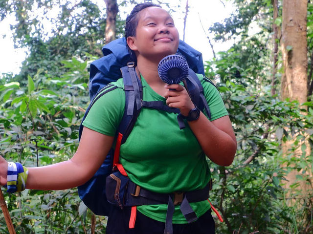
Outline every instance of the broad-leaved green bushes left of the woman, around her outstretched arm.
<path fill-rule="evenodd" d="M 68 71 L 60 78 L 39 73 L 28 76 L 26 86 L 0 85 L 0 154 L 6 160 L 44 166 L 67 160 L 76 151 L 82 107 L 89 101 L 88 64 L 75 57 L 63 64 Z M 92 214 L 75 188 L 4 194 L 17 233 L 85 233 L 90 226 Z M 0 222 L 1 233 L 7 232 L 4 219 Z M 99 232 L 103 222 L 100 218 L 96 226 Z"/>

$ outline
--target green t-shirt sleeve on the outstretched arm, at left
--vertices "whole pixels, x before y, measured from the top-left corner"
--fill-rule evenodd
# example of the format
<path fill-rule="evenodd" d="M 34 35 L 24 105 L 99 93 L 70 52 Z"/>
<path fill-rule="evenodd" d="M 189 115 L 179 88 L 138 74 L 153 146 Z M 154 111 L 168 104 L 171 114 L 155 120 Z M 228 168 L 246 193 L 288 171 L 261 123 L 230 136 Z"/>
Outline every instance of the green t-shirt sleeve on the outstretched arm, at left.
<path fill-rule="evenodd" d="M 123 117 L 125 92 L 116 86 L 113 90 L 102 91 L 97 97 L 83 126 L 108 136 L 114 136 Z"/>

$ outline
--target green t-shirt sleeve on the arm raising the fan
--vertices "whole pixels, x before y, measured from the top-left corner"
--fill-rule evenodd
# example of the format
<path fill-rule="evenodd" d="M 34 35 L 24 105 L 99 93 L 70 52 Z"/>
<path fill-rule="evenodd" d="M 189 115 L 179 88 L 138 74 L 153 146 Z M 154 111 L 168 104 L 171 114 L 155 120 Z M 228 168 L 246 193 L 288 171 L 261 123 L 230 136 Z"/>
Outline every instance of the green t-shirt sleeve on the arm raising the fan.
<path fill-rule="evenodd" d="M 202 75 L 198 75 L 203 86 L 204 97 L 210 108 L 211 119 L 210 121 L 219 119 L 225 115 L 228 115 L 226 107 L 224 105 L 222 96 L 217 87 L 210 82 L 203 79 Z"/>

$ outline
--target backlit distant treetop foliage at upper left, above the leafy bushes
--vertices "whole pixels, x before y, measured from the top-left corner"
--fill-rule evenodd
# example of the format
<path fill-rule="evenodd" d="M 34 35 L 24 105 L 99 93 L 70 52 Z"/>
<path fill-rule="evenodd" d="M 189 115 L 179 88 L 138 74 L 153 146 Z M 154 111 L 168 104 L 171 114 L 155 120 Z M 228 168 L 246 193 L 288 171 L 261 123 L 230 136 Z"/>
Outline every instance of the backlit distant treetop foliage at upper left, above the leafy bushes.
<path fill-rule="evenodd" d="M 106 16 L 101 10 L 104 12 L 90 0 L 13 0 L 0 5 L 2 19 L 7 14 L 16 16 L 16 24 L 11 25 L 16 46 L 29 49 L 15 80 L 21 82 L 38 71 L 59 76 L 66 71 L 60 69 L 62 60 L 83 57 L 86 52 L 102 56 Z"/>

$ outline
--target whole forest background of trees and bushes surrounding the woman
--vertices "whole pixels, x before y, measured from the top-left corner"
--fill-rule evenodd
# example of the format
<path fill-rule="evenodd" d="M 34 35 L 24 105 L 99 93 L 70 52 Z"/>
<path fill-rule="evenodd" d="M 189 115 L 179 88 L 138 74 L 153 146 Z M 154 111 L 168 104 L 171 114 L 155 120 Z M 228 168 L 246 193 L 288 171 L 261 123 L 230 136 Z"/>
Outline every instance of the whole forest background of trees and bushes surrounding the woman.
<path fill-rule="evenodd" d="M 89 64 L 102 56 L 104 44 L 123 36 L 118 10 L 139 2 L 105 0 L 103 15 L 90 0 L 0 1 L 0 20 L 15 14 L 14 43 L 29 51 L 19 74 L 0 78 L 0 154 L 6 160 L 37 167 L 73 155 L 89 104 Z M 216 232 L 312 234 L 313 3 L 221 2 L 235 10 L 203 28 L 214 54 L 204 64 L 224 98 L 238 149 L 230 167 L 208 161 L 210 197 L 224 218 L 215 217 Z M 47 18 L 55 25 L 47 35 L 33 9 L 48 17 L 55 5 L 61 10 Z M 188 1 L 174 10 L 188 21 Z M 251 25 L 260 30 L 251 35 Z M 229 40 L 236 43 L 215 53 L 214 43 Z M 107 218 L 92 214 L 75 188 L 4 196 L 18 234 L 104 233 Z M 0 233 L 8 233 L 2 213 Z"/>

